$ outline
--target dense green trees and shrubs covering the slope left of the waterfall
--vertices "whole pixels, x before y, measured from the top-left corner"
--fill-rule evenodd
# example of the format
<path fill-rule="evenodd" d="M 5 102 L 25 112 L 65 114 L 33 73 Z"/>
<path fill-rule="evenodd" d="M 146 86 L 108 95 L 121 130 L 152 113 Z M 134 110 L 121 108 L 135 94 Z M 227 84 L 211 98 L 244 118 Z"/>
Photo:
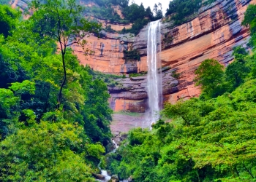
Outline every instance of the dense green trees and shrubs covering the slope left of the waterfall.
<path fill-rule="evenodd" d="M 0 5 L 0 181 L 94 181 L 110 143 L 108 88 L 67 47 L 99 25 L 74 2 L 34 1 L 29 20 Z"/>

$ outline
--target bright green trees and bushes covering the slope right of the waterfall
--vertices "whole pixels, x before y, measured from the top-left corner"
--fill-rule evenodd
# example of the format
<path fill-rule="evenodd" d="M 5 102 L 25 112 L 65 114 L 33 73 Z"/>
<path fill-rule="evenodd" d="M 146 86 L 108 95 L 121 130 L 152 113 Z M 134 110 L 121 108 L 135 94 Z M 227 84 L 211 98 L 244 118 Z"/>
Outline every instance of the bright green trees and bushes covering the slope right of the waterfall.
<path fill-rule="evenodd" d="M 244 22 L 255 42 L 256 5 Z M 256 44 L 253 44 L 254 47 Z M 165 104 L 153 130 L 132 130 L 105 158 L 109 170 L 134 181 L 255 181 L 256 53 L 235 47 L 227 68 L 205 60 L 195 71 L 200 98 Z"/>

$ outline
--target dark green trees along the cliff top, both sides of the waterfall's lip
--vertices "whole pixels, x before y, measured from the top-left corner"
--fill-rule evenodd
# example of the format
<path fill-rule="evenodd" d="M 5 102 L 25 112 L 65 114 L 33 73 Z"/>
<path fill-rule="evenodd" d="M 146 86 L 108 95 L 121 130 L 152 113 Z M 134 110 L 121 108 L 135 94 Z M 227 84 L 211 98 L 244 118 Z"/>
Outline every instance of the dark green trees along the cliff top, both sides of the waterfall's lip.
<path fill-rule="evenodd" d="M 159 20 L 163 17 L 162 4 L 154 4 L 154 9 L 150 7 L 145 8 L 143 4 L 132 3 L 129 5 L 129 0 L 93 0 L 99 7 L 88 7 L 86 13 L 91 13 L 95 17 L 110 20 L 112 23 L 133 23 L 132 28 L 123 29 L 119 33 L 135 33 L 138 34 L 141 28 L 150 21 Z M 172 25 L 181 25 L 190 20 L 189 17 L 196 15 L 200 7 L 210 4 L 214 0 L 173 0 L 170 1 L 167 12 L 165 13 L 166 20 L 171 20 Z M 124 18 L 121 18 L 113 5 L 121 7 L 121 13 Z M 104 7 L 104 8 L 102 8 Z M 110 28 L 107 31 L 114 32 Z"/>

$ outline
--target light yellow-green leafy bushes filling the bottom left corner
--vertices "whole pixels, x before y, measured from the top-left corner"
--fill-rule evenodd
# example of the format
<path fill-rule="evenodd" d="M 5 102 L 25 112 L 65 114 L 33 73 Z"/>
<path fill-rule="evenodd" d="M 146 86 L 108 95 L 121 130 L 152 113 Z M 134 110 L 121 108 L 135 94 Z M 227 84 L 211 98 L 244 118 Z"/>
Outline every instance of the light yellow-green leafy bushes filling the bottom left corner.
<path fill-rule="evenodd" d="M 1 181 L 94 181 L 83 152 L 88 158 L 92 147 L 102 146 L 88 145 L 80 135 L 82 128 L 67 123 L 18 130 L 1 142 Z"/>

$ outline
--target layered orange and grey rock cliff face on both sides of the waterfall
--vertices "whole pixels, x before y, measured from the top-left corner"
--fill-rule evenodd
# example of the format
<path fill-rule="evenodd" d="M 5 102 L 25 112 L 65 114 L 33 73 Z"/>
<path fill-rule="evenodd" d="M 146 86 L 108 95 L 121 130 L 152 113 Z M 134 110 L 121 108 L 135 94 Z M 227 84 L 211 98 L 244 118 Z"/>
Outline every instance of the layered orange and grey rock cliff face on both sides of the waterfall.
<path fill-rule="evenodd" d="M 12 0 L 13 5 L 26 7 L 29 0 Z M 227 66 L 233 60 L 232 49 L 238 45 L 246 47 L 249 31 L 241 26 L 248 4 L 256 0 L 216 0 L 202 7 L 187 23 L 173 26 L 172 22 L 162 20 L 162 52 L 160 58 L 165 71 L 162 73 L 164 101 L 175 103 L 178 99 L 198 96 L 195 87 L 195 69 L 208 58 L 219 60 Z M 90 4 L 89 4 L 90 5 Z M 89 6 L 88 4 L 85 6 Z M 93 5 L 93 4 L 92 4 Z M 116 31 L 130 28 L 131 24 L 111 24 L 99 20 L 103 27 L 111 25 Z M 91 35 L 86 49 L 91 55 L 84 56 L 81 47 L 72 47 L 80 63 L 88 64 L 95 71 L 110 74 L 129 74 L 147 71 L 146 48 L 148 27 L 138 36 L 131 33 L 117 34 L 102 31 L 101 35 Z M 101 37 L 101 38 L 98 38 Z M 140 60 L 126 60 L 124 50 L 137 49 Z M 173 77 L 173 71 L 176 74 Z M 144 112 L 147 108 L 146 76 L 119 79 L 122 86 L 109 87 L 110 106 L 114 111 L 128 110 Z"/>

